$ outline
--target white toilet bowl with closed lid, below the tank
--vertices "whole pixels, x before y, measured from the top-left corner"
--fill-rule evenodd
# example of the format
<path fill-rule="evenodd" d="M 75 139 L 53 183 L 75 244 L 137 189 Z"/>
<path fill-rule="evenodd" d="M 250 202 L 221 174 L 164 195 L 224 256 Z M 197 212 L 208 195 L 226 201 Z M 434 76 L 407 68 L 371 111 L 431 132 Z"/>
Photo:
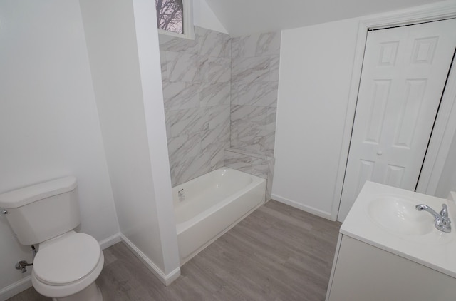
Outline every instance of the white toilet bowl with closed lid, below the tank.
<path fill-rule="evenodd" d="M 95 280 L 104 256 L 95 238 L 70 231 L 39 245 L 31 280 L 41 295 L 53 300 L 103 300 Z"/>

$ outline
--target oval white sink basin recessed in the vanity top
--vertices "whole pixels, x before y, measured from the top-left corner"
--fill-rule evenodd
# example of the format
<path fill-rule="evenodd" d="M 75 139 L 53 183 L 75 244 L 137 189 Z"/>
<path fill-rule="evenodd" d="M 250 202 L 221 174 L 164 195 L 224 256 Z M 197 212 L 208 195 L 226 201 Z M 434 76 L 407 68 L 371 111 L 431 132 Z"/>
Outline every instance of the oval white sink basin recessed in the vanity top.
<path fill-rule="evenodd" d="M 368 215 L 382 228 L 399 235 L 425 235 L 437 230 L 432 215 L 415 209 L 418 204 L 418 200 L 383 196 L 371 200 Z"/>

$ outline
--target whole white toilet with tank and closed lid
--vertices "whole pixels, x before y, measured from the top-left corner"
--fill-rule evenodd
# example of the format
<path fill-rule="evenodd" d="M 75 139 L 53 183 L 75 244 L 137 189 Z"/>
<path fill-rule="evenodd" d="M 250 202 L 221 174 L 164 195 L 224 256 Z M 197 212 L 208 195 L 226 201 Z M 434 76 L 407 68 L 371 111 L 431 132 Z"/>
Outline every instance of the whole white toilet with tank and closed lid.
<path fill-rule="evenodd" d="M 23 245 L 38 245 L 31 280 L 53 300 L 103 300 L 95 280 L 103 269 L 97 240 L 80 223 L 76 178 L 51 180 L 0 195 L 1 213 Z"/>

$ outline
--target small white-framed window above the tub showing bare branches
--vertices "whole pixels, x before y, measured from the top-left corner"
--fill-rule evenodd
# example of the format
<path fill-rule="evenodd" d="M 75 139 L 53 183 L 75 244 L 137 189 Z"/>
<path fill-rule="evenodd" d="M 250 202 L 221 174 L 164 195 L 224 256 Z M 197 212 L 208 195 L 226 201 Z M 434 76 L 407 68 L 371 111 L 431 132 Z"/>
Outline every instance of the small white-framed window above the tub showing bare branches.
<path fill-rule="evenodd" d="M 157 26 L 160 34 L 193 37 L 190 14 L 191 0 L 155 0 Z"/>

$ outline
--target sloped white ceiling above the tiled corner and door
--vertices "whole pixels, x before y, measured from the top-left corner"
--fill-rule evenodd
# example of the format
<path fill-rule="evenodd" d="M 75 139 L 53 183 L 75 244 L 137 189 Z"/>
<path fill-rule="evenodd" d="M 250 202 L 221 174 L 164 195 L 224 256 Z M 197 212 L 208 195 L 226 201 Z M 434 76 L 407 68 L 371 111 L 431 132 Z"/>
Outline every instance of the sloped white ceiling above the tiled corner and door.
<path fill-rule="evenodd" d="M 232 36 L 395 11 L 439 0 L 206 0 Z"/>

